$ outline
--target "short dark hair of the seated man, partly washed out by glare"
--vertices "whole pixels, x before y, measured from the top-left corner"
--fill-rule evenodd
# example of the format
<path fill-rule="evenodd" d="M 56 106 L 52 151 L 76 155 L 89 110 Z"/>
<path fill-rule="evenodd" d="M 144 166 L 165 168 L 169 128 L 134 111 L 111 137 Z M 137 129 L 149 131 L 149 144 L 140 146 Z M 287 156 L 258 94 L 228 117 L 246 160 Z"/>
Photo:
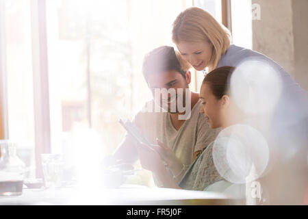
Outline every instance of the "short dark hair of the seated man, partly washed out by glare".
<path fill-rule="evenodd" d="M 173 47 L 158 47 L 145 55 L 142 65 L 142 74 L 146 82 L 150 74 L 163 73 L 176 70 L 186 79 L 186 71 L 190 64 L 181 58 L 179 52 Z"/>

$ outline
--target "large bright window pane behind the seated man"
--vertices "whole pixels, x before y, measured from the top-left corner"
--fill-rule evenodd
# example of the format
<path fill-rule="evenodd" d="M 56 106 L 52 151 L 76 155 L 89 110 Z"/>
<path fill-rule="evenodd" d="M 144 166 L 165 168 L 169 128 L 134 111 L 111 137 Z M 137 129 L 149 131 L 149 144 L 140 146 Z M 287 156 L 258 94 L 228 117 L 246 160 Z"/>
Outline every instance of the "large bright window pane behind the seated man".
<path fill-rule="evenodd" d="M 80 151 L 111 153 L 151 92 L 142 76 L 146 53 L 172 45 L 181 1 L 47 1 L 53 152 L 75 162 Z M 95 151 L 95 153 L 94 153 Z"/>

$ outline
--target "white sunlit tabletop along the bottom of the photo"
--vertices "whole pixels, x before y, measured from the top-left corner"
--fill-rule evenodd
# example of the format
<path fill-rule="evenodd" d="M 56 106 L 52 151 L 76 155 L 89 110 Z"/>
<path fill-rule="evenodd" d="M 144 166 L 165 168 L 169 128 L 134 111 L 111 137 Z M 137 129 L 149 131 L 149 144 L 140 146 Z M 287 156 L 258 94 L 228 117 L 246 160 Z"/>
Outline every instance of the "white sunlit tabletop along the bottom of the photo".
<path fill-rule="evenodd" d="M 0 205 L 238 205 L 216 192 L 122 185 L 107 188 L 24 189 L 21 196 L 0 196 Z"/>

